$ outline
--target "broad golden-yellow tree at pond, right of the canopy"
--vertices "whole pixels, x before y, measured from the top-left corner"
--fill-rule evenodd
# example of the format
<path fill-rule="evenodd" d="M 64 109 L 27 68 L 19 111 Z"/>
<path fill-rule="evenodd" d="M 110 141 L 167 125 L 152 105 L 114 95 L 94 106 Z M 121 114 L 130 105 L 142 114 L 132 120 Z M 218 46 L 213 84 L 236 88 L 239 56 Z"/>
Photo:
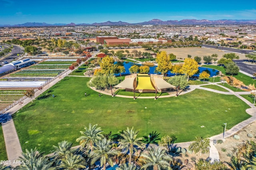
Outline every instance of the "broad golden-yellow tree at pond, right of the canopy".
<path fill-rule="evenodd" d="M 198 63 L 194 59 L 186 58 L 184 60 L 184 64 L 182 66 L 182 73 L 188 76 L 187 81 L 189 80 L 189 77 L 196 74 L 196 72 L 198 71 L 198 66 Z"/>

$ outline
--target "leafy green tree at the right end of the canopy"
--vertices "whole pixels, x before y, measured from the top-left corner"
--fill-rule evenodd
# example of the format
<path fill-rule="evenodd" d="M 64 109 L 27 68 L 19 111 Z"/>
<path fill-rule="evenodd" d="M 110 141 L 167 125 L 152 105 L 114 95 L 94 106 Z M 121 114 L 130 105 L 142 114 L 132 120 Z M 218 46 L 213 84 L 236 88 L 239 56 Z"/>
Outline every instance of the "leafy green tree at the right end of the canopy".
<path fill-rule="evenodd" d="M 176 86 L 176 96 L 178 96 L 179 90 L 184 90 L 189 85 L 185 75 L 175 75 L 168 79 L 168 83 Z"/>

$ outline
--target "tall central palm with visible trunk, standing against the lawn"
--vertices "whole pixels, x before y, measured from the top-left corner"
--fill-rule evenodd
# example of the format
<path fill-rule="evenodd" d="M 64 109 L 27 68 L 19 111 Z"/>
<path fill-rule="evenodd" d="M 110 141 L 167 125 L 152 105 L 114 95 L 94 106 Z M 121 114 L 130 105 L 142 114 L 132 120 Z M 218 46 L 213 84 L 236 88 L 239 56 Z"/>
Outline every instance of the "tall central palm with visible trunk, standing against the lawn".
<path fill-rule="evenodd" d="M 127 129 L 121 134 L 121 137 L 123 139 L 120 139 L 119 142 L 121 144 L 121 148 L 125 149 L 125 152 L 127 153 L 129 151 L 129 164 L 132 162 L 132 154 L 133 152 L 137 152 L 137 147 L 142 147 L 142 140 L 143 138 L 137 138 L 139 131 L 135 131 L 132 127 L 132 129 Z"/>

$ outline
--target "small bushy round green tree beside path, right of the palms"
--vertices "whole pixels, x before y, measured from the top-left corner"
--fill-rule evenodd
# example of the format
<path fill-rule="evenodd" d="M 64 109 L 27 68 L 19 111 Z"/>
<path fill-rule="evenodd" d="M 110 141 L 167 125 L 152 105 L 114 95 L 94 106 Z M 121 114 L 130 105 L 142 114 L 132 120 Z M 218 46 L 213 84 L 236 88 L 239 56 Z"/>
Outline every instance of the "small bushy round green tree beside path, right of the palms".
<path fill-rule="evenodd" d="M 195 153 L 200 151 L 201 156 L 202 153 L 204 154 L 210 151 L 210 139 L 197 136 L 188 148 Z"/>

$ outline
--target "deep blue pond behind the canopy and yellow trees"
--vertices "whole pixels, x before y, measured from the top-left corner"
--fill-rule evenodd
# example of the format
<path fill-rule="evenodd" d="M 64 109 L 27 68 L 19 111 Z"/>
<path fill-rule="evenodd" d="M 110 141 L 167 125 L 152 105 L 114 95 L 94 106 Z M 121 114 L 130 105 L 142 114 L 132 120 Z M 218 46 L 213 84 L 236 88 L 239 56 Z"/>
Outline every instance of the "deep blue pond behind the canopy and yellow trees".
<path fill-rule="evenodd" d="M 115 62 L 116 64 L 116 62 Z M 141 64 L 138 64 L 138 63 L 132 63 L 132 62 L 128 62 L 128 61 L 124 61 L 122 63 L 124 65 L 124 68 L 126 70 L 126 72 L 122 73 L 122 75 L 127 75 L 127 74 L 130 74 L 129 72 L 129 68 L 133 65 L 138 65 L 138 66 L 141 66 Z M 148 65 L 149 66 L 149 65 Z M 156 69 L 157 66 L 149 66 L 149 73 L 148 74 L 156 74 L 154 71 Z M 206 68 L 206 67 L 198 67 L 198 73 L 197 74 L 194 74 L 194 76 L 199 76 L 199 74 L 203 71 L 206 71 L 210 74 L 210 77 L 212 76 L 216 76 L 218 75 L 219 71 L 218 70 L 215 70 L 215 69 L 212 69 L 212 68 Z M 175 74 L 171 73 L 170 71 L 167 72 L 167 76 L 174 76 Z"/>

